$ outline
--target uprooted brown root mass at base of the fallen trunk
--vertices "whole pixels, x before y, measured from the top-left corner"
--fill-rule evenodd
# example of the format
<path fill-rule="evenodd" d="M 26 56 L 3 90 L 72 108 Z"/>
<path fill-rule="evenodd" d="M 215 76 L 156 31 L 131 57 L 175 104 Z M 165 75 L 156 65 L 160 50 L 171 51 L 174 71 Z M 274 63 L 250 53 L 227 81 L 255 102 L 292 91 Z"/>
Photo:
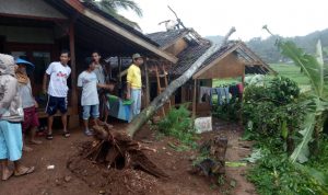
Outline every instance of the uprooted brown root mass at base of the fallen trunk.
<path fill-rule="evenodd" d="M 168 177 L 142 151 L 156 150 L 141 146 L 125 133 L 112 130 L 105 123 L 94 126 L 93 129 L 96 141 L 84 158 L 95 163 L 104 163 L 107 169 L 140 169 L 156 177 Z"/>

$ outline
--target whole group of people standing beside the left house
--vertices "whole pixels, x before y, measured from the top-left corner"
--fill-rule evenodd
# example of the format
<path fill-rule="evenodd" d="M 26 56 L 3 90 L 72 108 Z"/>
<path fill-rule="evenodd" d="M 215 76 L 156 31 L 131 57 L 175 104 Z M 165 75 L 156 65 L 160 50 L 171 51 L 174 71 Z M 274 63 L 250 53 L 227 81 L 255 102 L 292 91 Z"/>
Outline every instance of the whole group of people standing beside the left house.
<path fill-rule="evenodd" d="M 44 76 L 43 91 L 48 94 L 46 113 L 48 115 L 48 131 L 46 139 L 54 139 L 52 123 L 54 115 L 61 113 L 62 136 L 70 137 L 67 127 L 68 112 L 68 83 L 67 80 L 71 73 L 68 66 L 70 53 L 62 50 L 59 61 L 51 62 Z M 78 77 L 78 89 L 82 90 L 81 105 L 83 107 L 82 119 L 84 134 L 93 135 L 89 127 L 90 117 L 96 125 L 99 116 L 107 122 L 109 105 L 106 93 L 115 88 L 114 82 L 109 82 L 106 68 L 99 62 L 101 55 L 97 51 L 92 53 L 91 57 L 84 60 L 84 71 Z M 141 71 L 140 66 L 143 58 L 139 54 L 132 56 L 132 65 L 127 74 L 127 99 L 132 100 L 132 115 L 140 113 L 141 106 Z M 32 150 L 23 145 L 24 135 L 30 129 L 30 142 L 39 145 L 40 140 L 35 138 L 38 127 L 38 104 L 32 93 L 32 84 L 27 77 L 26 69 L 33 68 L 28 61 L 16 59 L 10 55 L 0 54 L 0 161 L 2 164 L 2 180 L 8 180 L 11 175 L 24 175 L 32 173 L 34 167 L 24 167 L 20 163 L 23 149 Z M 102 114 L 101 114 L 102 113 Z M 9 168 L 9 161 L 14 164 L 14 170 Z"/>

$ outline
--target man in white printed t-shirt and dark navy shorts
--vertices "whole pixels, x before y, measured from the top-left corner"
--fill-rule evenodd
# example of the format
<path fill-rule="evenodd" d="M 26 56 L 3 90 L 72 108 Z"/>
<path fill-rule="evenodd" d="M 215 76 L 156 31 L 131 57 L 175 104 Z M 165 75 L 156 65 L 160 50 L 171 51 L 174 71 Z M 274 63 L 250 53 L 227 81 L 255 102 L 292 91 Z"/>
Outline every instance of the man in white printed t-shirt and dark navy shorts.
<path fill-rule="evenodd" d="M 67 94 L 68 85 L 67 79 L 71 73 L 71 68 L 67 65 L 70 60 L 70 53 L 68 50 L 62 50 L 60 53 L 60 61 L 54 61 L 49 65 L 44 76 L 44 92 L 48 93 L 48 103 L 46 107 L 46 113 L 48 114 L 48 135 L 47 139 L 51 140 L 52 137 L 52 123 L 54 115 L 57 110 L 61 113 L 61 122 L 63 127 L 63 136 L 69 137 L 70 134 L 67 129 Z M 48 90 L 47 80 L 50 77 Z"/>

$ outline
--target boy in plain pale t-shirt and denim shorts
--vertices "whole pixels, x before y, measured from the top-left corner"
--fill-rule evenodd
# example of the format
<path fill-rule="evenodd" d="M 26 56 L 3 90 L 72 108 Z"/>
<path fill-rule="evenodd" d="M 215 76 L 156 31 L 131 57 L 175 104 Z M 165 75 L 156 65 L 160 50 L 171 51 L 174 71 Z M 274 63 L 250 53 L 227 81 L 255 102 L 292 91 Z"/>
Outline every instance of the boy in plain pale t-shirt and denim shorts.
<path fill-rule="evenodd" d="M 81 105 L 83 106 L 83 124 L 84 134 L 92 136 L 92 131 L 89 129 L 90 114 L 94 119 L 94 124 L 97 125 L 99 117 L 99 99 L 97 88 L 104 88 L 113 90 L 112 85 L 98 83 L 96 73 L 94 72 L 95 62 L 91 58 L 86 58 L 84 61 L 85 70 L 79 74 L 78 87 L 82 89 Z"/>

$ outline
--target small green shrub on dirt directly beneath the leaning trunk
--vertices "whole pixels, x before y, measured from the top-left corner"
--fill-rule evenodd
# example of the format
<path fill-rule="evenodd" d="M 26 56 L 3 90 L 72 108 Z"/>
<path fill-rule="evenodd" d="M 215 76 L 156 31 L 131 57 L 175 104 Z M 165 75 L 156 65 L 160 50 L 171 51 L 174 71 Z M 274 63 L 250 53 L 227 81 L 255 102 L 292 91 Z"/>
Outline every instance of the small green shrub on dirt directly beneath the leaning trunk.
<path fill-rule="evenodd" d="M 166 136 L 173 136 L 184 144 L 190 144 L 195 137 L 192 119 L 187 105 L 171 108 L 167 115 L 157 124 L 159 130 Z"/>

